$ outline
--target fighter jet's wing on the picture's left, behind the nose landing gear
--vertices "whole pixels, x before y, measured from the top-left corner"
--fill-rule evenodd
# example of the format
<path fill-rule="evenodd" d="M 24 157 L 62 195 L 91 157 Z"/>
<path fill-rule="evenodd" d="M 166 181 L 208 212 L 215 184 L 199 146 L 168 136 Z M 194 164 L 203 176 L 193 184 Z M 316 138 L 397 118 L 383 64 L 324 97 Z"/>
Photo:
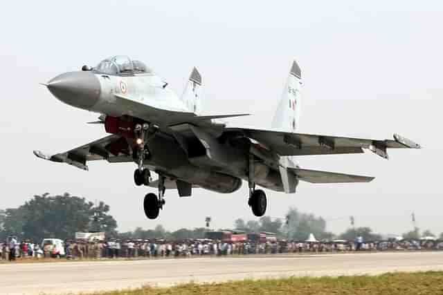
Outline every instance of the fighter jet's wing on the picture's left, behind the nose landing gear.
<path fill-rule="evenodd" d="M 125 151 L 125 146 L 128 145 L 124 137 L 120 135 L 109 135 L 63 153 L 48 155 L 41 151 L 34 151 L 34 154 L 44 160 L 67 163 L 77 168 L 88 170 L 88 161 L 107 160 L 108 162 L 132 162 L 133 160 L 129 155 L 129 151 L 128 153 L 117 152 Z"/>

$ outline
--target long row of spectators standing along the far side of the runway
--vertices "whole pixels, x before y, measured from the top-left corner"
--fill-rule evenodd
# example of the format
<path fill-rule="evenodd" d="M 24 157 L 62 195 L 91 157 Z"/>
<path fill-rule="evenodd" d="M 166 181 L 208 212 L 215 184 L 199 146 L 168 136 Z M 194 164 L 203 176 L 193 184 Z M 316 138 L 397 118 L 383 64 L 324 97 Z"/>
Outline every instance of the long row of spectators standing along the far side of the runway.
<path fill-rule="evenodd" d="M 0 259 L 44 258 L 66 256 L 69 259 L 82 258 L 163 258 L 190 256 L 230 256 L 251 254 L 283 253 L 331 253 L 347 251 L 425 250 L 443 249 L 443 240 L 386 240 L 367 241 L 336 240 L 332 242 L 303 241 L 251 241 L 228 242 L 221 240 L 195 239 L 181 241 L 167 240 L 66 240 L 63 255 L 51 245 L 39 245 L 30 240 L 17 242 L 11 238 L 0 242 Z"/>

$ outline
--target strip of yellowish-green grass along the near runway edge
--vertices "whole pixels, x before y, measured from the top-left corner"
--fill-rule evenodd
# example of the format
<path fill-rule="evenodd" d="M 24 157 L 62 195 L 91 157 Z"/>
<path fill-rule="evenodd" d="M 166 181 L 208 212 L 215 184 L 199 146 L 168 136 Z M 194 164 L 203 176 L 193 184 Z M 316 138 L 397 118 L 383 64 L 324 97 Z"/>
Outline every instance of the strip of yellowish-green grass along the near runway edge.
<path fill-rule="evenodd" d="M 443 272 L 390 273 L 379 276 L 291 277 L 228 283 L 188 283 L 83 295 L 190 294 L 443 294 Z"/>

